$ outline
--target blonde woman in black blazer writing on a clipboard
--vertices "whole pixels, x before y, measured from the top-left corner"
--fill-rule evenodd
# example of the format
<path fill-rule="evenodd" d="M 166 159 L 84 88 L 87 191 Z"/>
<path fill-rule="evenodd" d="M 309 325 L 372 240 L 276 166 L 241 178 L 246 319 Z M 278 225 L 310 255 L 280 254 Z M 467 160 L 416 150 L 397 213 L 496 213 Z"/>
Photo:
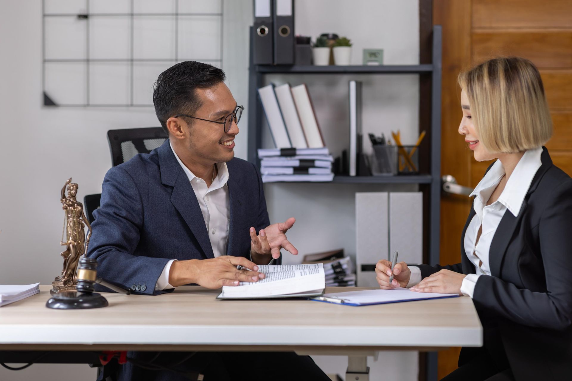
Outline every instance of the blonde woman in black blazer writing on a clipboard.
<path fill-rule="evenodd" d="M 538 69 L 496 58 L 459 75 L 459 134 L 476 161 L 496 160 L 472 195 L 461 263 L 380 260 L 381 288 L 470 296 L 482 348 L 463 348 L 444 380 L 572 378 L 572 179 L 542 147 L 552 134 Z"/>

